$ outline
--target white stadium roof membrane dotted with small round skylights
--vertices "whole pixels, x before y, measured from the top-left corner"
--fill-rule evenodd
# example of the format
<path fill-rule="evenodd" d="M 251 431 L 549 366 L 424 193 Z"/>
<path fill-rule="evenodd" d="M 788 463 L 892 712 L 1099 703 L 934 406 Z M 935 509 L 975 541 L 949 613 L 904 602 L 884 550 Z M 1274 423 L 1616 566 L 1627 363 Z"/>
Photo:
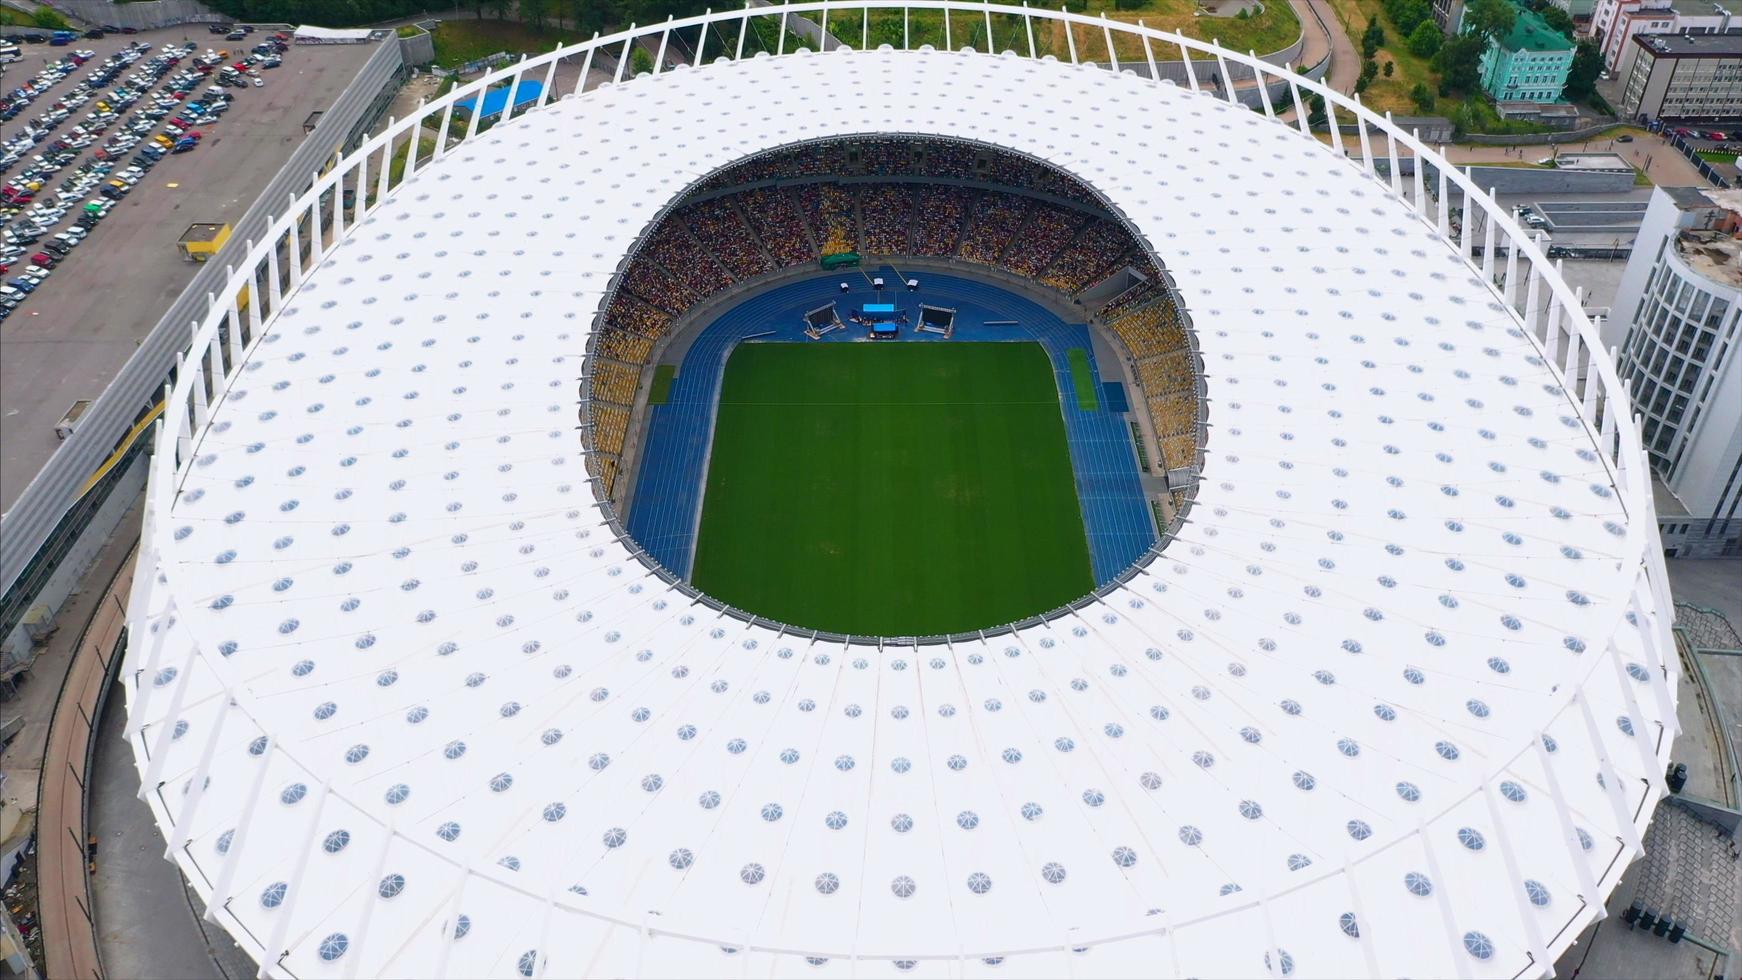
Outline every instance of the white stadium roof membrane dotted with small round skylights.
<path fill-rule="evenodd" d="M 1082 178 L 1193 319 L 1190 520 L 1050 623 L 782 635 L 589 489 L 577 379 L 638 235 L 716 167 L 878 132 Z M 1587 418 L 1291 124 L 1014 56 L 665 71 L 451 148 L 286 299 L 153 513 L 129 735 L 273 975 L 1540 975 L 1674 726 L 1657 614 L 1592 634 L 1651 513 Z"/>

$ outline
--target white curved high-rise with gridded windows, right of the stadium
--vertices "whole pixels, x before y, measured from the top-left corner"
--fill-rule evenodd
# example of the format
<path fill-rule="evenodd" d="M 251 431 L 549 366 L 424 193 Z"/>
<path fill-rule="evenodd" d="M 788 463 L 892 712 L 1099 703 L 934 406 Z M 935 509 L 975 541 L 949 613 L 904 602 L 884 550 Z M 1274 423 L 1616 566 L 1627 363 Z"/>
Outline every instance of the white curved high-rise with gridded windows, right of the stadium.
<path fill-rule="evenodd" d="M 1658 188 L 1603 343 L 1651 470 L 1693 517 L 1742 517 L 1742 191 Z"/>

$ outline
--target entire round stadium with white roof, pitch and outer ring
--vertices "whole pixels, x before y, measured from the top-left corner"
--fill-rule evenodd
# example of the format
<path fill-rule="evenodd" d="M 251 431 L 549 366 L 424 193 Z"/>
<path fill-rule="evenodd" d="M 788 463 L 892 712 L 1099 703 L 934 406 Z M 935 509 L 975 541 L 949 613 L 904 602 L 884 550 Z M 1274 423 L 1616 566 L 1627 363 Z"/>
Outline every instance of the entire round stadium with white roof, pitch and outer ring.
<path fill-rule="evenodd" d="M 732 47 L 868 9 L 998 44 Z M 141 794 L 270 977 L 1549 975 L 1678 731 L 1596 336 L 1286 64 L 890 0 L 559 49 L 195 324 Z"/>

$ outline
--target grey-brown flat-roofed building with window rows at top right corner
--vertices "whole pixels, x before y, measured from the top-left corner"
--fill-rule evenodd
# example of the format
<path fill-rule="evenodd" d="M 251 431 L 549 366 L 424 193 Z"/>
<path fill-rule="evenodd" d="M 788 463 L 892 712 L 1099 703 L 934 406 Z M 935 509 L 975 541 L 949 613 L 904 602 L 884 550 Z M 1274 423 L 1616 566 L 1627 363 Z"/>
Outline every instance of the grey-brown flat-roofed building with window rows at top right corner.
<path fill-rule="evenodd" d="M 1742 115 L 1742 33 L 1634 35 L 1622 115 L 1636 120 L 1728 120 Z"/>

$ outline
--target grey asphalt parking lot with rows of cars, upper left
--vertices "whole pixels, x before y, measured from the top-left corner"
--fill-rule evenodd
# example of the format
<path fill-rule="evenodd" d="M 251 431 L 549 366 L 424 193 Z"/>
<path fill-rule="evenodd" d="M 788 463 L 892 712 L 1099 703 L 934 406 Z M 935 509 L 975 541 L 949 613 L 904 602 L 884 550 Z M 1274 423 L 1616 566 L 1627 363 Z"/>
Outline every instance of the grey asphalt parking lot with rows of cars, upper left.
<path fill-rule="evenodd" d="M 200 24 L 132 37 L 80 38 L 71 47 L 94 50 L 96 57 L 61 80 L 9 129 L 71 92 L 101 59 L 141 40 L 152 45 L 190 40 L 199 45 L 199 54 L 211 47 L 230 49 L 232 56 L 254 44 L 253 38 L 226 42 Z M 7 68 L 0 87 L 28 78 L 44 61 L 68 49 L 24 45 L 23 50 L 24 61 Z M 188 225 L 240 218 L 303 139 L 308 115 L 331 104 L 373 50 L 373 44 L 293 45 L 282 68 L 261 73 L 265 87 L 232 89 L 230 111 L 214 125 L 200 125 L 204 139 L 199 148 L 164 157 L 91 230 L 89 240 L 68 252 L 0 324 L 0 508 L 12 505 L 54 453 L 56 421 L 75 400 L 96 399 L 103 392 L 193 277 L 197 266 L 176 249 Z M 141 99 L 134 108 L 145 104 Z M 71 125 L 68 120 L 56 132 Z M 85 148 L 80 160 L 91 150 L 96 144 Z M 117 169 L 125 167 L 131 155 L 124 153 Z M 71 169 L 56 174 L 49 186 Z M 9 279 L 12 275 L 16 272 Z"/>

